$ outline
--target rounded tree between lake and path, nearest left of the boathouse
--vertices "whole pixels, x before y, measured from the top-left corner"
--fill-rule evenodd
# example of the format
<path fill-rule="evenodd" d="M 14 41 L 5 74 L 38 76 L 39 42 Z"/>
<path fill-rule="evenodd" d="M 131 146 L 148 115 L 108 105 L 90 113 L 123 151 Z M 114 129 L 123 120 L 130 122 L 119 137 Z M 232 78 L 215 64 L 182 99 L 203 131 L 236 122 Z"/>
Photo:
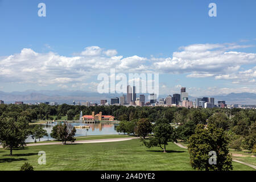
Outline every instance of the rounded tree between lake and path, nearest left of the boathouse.
<path fill-rule="evenodd" d="M 76 129 L 70 123 L 57 124 L 53 126 L 51 137 L 57 140 L 61 140 L 63 144 L 67 141 L 75 142 Z"/>

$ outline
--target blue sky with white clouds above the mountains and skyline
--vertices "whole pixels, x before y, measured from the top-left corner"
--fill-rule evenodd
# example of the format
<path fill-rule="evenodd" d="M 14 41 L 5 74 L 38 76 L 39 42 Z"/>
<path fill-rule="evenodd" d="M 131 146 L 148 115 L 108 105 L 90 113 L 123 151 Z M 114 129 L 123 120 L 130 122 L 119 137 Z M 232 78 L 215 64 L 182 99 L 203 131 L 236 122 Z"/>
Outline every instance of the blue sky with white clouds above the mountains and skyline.
<path fill-rule="evenodd" d="M 46 16 L 38 16 L 39 3 Z M 217 16 L 210 17 L 209 3 Z M 256 1 L 0 0 L 0 91 L 97 92 L 159 73 L 159 93 L 256 93 Z"/>

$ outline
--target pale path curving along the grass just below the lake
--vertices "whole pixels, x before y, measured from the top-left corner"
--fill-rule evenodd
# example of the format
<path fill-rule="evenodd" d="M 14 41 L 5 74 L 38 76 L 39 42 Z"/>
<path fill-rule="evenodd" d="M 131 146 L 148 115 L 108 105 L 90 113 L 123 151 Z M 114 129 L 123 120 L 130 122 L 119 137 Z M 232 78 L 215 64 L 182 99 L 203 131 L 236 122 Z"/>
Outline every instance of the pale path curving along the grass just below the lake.
<path fill-rule="evenodd" d="M 138 137 L 129 137 L 129 138 L 109 138 L 109 139 L 95 139 L 95 140 L 80 140 L 80 141 L 75 141 L 73 143 L 103 143 L 103 142 L 121 142 L 121 141 L 126 141 L 126 140 L 131 140 L 135 139 Z M 69 144 L 71 142 L 67 142 Z M 48 143 L 30 143 L 27 144 L 27 146 L 45 146 L 48 144 L 62 144 L 62 142 L 48 142 Z M 0 146 L 2 148 L 2 146 Z"/>

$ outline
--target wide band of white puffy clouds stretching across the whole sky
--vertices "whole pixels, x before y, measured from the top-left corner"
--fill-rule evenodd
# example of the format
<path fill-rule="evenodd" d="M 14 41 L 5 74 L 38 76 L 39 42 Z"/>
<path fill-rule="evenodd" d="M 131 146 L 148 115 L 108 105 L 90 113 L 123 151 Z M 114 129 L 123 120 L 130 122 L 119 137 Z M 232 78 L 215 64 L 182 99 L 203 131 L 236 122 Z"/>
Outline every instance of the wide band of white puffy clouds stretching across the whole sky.
<path fill-rule="evenodd" d="M 88 78 L 102 72 L 109 74 L 110 68 L 115 68 L 116 72 L 122 73 L 185 73 L 187 77 L 214 77 L 216 80 L 230 80 L 233 84 L 253 85 L 256 68 L 243 70 L 242 67 L 255 65 L 256 53 L 233 50 L 246 47 L 250 46 L 234 43 L 192 44 L 180 47 L 179 51 L 172 53 L 172 57 L 157 58 L 138 55 L 123 57 L 117 55 L 115 49 L 106 50 L 98 46 L 86 47 L 70 57 L 24 48 L 20 53 L 0 57 L 0 81 L 40 86 L 57 84 L 61 88 L 68 84 L 73 88 L 88 87 L 83 85 Z"/>

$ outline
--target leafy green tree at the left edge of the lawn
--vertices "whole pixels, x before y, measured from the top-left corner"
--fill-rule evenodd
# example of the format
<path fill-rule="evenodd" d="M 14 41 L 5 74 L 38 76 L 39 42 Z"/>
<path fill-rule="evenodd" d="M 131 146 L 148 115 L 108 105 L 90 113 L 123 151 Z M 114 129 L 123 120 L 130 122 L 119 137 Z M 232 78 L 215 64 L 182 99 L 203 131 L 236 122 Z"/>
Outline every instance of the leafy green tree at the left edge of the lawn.
<path fill-rule="evenodd" d="M 10 148 L 10 155 L 13 155 L 13 148 L 26 145 L 28 126 L 26 117 L 0 119 L 0 143 Z"/>

